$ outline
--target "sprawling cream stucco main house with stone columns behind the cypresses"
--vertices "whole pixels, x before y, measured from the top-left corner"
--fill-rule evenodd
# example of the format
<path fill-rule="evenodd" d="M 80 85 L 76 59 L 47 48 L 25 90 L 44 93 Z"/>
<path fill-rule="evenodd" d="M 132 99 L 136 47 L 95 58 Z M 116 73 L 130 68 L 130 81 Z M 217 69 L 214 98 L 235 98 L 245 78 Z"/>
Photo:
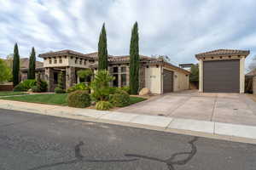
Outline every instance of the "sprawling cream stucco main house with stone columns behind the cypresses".
<path fill-rule="evenodd" d="M 77 71 L 97 70 L 97 53 L 81 54 L 72 50 L 61 50 L 39 54 L 44 59 L 44 79 L 49 91 L 54 91 L 58 73 L 64 71 L 65 88 L 80 82 Z M 164 94 L 189 89 L 189 71 L 171 65 L 163 59 L 140 55 L 140 88 L 149 88 L 153 94 Z M 129 86 L 129 55 L 108 55 L 108 71 L 115 77 L 113 87 Z"/>

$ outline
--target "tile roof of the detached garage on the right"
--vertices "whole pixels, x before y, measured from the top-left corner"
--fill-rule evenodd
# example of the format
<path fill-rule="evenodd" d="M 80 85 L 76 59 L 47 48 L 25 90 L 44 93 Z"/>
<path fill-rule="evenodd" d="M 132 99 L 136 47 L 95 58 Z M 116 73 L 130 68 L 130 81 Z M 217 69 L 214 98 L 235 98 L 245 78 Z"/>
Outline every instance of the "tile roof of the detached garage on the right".
<path fill-rule="evenodd" d="M 216 55 L 234 55 L 234 54 L 247 56 L 248 54 L 250 54 L 250 51 L 238 50 L 238 49 L 217 49 L 217 50 L 213 50 L 213 51 L 209 51 L 201 54 L 195 54 L 195 57 L 199 59 L 201 57 L 208 57 L 208 56 L 212 57 Z"/>

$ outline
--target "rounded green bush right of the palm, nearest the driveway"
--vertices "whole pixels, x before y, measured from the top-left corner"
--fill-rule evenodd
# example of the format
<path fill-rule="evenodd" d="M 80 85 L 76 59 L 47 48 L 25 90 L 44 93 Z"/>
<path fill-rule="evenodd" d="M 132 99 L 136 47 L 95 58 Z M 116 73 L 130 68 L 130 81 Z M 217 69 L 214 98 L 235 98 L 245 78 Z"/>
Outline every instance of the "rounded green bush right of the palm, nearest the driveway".
<path fill-rule="evenodd" d="M 111 95 L 110 102 L 117 107 L 124 107 L 130 104 L 130 95 L 124 90 L 117 90 L 116 94 Z"/>

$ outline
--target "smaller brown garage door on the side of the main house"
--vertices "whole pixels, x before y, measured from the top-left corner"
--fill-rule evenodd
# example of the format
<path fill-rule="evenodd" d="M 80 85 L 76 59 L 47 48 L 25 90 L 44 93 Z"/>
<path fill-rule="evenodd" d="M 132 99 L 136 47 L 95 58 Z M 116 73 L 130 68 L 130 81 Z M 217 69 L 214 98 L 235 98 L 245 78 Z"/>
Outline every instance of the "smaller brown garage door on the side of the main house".
<path fill-rule="evenodd" d="M 164 93 L 173 92 L 173 71 L 164 69 L 163 91 Z"/>

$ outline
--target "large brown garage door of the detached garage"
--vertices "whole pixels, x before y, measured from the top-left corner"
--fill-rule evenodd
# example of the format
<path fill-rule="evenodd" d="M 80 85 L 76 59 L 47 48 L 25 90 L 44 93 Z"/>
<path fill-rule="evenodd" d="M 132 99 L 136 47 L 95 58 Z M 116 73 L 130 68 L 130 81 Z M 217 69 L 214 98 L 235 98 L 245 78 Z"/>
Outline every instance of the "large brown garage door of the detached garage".
<path fill-rule="evenodd" d="M 204 92 L 239 93 L 239 59 L 204 61 Z"/>

